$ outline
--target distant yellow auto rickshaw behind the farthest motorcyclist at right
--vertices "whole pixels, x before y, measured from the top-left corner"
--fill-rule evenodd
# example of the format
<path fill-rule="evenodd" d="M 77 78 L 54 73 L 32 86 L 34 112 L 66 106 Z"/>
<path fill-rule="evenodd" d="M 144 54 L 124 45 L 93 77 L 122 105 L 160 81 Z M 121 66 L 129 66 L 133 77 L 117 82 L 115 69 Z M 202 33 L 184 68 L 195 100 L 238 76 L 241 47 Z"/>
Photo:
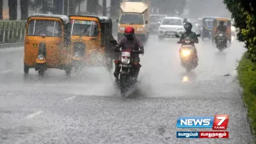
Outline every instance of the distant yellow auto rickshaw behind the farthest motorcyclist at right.
<path fill-rule="evenodd" d="M 227 18 L 217 18 L 213 20 L 213 29 L 212 29 L 212 43 L 214 42 L 214 34 L 217 31 L 218 26 L 220 25 L 220 22 L 223 21 L 224 25 L 227 26 L 227 31 L 226 31 L 226 35 L 227 35 L 227 40 L 228 42 L 231 44 L 231 37 L 232 37 L 232 31 L 231 31 L 231 19 L 227 19 Z"/>

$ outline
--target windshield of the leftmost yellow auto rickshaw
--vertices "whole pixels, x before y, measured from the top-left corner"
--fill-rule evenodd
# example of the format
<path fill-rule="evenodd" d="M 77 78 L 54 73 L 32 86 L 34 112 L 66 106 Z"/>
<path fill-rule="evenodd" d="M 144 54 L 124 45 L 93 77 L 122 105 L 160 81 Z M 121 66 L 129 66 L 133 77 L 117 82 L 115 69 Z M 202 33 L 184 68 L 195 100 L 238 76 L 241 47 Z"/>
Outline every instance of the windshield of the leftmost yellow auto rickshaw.
<path fill-rule="evenodd" d="M 61 37 L 61 22 L 56 20 L 30 20 L 28 36 Z"/>

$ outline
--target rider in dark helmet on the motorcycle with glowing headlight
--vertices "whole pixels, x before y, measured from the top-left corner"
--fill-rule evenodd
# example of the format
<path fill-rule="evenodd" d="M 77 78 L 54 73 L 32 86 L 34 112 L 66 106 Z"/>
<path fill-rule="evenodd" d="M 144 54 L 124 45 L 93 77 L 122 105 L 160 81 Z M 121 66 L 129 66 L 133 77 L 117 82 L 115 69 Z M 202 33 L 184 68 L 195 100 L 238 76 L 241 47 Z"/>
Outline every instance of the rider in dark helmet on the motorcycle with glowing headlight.
<path fill-rule="evenodd" d="M 190 22 L 186 22 L 186 24 L 184 24 L 184 28 L 186 29 L 186 32 L 182 33 L 182 35 L 180 36 L 179 42 L 184 40 L 185 38 L 190 38 L 194 40 L 196 44 L 198 44 L 199 40 L 196 36 L 196 33 L 192 31 L 192 28 L 193 28 L 192 24 Z M 196 48 L 195 48 L 195 58 L 196 58 L 196 61 L 198 62 Z"/>

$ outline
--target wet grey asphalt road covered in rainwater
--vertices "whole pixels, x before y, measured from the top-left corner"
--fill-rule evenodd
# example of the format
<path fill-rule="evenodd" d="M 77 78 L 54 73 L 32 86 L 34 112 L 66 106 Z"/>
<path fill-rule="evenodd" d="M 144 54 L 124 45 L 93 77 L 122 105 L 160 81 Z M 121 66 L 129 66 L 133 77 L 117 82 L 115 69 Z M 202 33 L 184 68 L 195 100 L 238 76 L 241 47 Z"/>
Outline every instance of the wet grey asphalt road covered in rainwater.
<path fill-rule="evenodd" d="M 1 49 L 0 143 L 252 143 L 235 80 L 243 44 L 218 52 L 200 41 L 199 65 L 187 73 L 176 41 L 150 37 L 131 99 L 120 97 L 104 68 L 69 80 L 63 70 L 48 70 L 41 81 L 31 69 L 24 81 L 22 47 Z M 177 129 L 179 116 L 216 114 L 230 115 L 228 140 L 176 138 L 177 131 L 212 131 Z"/>

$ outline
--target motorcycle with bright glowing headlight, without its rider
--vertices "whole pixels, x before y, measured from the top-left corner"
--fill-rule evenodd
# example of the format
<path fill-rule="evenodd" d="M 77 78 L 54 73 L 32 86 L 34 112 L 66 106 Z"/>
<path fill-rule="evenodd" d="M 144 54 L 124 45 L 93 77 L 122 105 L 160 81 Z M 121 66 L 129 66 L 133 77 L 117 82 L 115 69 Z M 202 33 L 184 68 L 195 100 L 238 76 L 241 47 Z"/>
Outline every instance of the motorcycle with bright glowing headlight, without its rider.
<path fill-rule="evenodd" d="M 199 37 L 200 35 L 196 36 Z M 195 41 L 191 40 L 190 38 L 185 38 L 184 40 L 181 40 L 177 43 L 181 44 L 181 47 L 179 49 L 180 63 L 182 67 L 186 68 L 187 72 L 190 72 L 198 65 L 198 59 L 196 58 Z"/>

